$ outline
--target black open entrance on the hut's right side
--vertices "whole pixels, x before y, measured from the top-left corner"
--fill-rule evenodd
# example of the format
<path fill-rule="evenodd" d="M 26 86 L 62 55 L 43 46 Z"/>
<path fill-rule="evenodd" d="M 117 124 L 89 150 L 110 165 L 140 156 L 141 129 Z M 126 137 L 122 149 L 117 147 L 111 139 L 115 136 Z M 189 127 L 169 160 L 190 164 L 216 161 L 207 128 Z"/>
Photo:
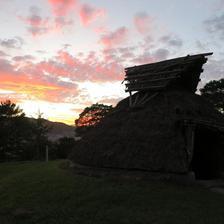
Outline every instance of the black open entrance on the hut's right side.
<path fill-rule="evenodd" d="M 216 179 L 220 175 L 218 132 L 205 127 L 195 130 L 192 169 L 196 179 Z"/>

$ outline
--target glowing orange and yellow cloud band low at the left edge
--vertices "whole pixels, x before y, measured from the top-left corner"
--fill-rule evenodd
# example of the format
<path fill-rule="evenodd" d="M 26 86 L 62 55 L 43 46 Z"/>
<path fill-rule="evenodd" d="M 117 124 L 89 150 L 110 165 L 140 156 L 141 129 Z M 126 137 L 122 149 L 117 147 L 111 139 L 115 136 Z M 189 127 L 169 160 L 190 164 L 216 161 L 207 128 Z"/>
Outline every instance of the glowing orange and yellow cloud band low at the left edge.
<path fill-rule="evenodd" d="M 13 91 L 18 98 L 63 102 L 67 97 L 77 95 L 76 84 L 45 75 L 40 64 L 24 63 L 18 68 L 17 64 L 1 60 L 0 65 L 0 89 Z M 1 92 L 0 96 L 3 96 Z"/>

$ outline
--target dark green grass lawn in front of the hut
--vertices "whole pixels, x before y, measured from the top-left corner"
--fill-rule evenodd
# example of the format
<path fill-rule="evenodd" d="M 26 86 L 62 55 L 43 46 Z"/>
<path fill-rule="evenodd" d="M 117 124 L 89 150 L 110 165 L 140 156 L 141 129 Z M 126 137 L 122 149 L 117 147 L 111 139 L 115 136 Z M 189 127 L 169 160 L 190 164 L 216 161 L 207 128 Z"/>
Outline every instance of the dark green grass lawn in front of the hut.
<path fill-rule="evenodd" d="M 62 161 L 0 164 L 0 224 L 224 223 L 224 195 L 75 175 Z"/>

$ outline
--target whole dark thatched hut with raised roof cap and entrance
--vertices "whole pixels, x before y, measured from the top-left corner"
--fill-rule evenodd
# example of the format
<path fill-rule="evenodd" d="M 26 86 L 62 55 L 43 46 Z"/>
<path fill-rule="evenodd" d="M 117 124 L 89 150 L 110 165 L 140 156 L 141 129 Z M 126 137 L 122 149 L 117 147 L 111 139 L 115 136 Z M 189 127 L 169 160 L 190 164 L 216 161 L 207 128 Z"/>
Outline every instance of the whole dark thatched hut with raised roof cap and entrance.
<path fill-rule="evenodd" d="M 219 176 L 224 168 L 224 117 L 195 94 L 207 55 L 126 69 L 130 97 L 86 134 L 71 156 L 73 162 L 176 174 L 193 171 L 205 179 Z"/>

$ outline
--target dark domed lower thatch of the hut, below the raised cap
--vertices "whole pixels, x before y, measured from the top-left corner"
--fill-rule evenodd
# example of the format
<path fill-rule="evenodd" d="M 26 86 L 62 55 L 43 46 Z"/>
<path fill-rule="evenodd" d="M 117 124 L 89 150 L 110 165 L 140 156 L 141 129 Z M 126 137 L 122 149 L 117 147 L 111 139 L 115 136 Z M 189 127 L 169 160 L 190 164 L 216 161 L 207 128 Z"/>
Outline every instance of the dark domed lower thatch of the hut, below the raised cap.
<path fill-rule="evenodd" d="M 133 95 L 133 98 L 139 94 Z M 152 93 L 153 94 L 153 93 Z M 142 108 L 129 108 L 128 98 L 90 130 L 74 149 L 75 163 L 165 172 L 187 172 L 183 121 L 223 124 L 223 115 L 201 96 L 188 91 L 162 91 Z"/>

